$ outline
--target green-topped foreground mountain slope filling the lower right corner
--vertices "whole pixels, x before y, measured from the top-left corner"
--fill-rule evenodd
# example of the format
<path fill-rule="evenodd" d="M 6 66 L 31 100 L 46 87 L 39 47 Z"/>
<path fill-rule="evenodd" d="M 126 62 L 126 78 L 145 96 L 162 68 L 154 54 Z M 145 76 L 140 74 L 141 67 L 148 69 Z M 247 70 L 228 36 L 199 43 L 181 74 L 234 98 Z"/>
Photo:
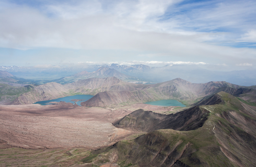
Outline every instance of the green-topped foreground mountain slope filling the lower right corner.
<path fill-rule="evenodd" d="M 212 105 L 196 106 L 208 111 L 201 127 L 188 131 L 156 130 L 92 151 L 81 161 L 120 166 L 255 166 L 256 108 L 225 92 L 203 103 L 209 101 Z"/>

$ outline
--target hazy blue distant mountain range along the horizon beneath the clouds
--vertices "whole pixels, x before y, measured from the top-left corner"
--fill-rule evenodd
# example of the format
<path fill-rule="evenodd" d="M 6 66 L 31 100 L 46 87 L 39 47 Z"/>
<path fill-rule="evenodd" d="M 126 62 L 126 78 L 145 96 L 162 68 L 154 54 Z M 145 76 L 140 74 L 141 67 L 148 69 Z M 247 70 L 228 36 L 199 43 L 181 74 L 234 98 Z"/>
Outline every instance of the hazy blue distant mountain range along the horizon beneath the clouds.
<path fill-rule="evenodd" d="M 115 69 L 116 71 L 129 75 L 139 81 L 160 83 L 175 78 L 183 78 L 193 83 L 206 83 L 209 81 L 226 81 L 237 85 L 251 86 L 256 83 L 256 70 L 239 70 L 239 71 L 210 71 L 196 65 L 166 65 L 163 67 L 150 67 L 146 65 L 84 65 L 77 67 L 51 66 L 50 68 L 38 67 L 17 67 L 17 66 L 0 66 L 0 70 L 5 70 L 11 74 L 26 79 L 46 79 L 48 81 L 57 80 L 72 76 L 81 71 L 89 73 L 97 71 L 100 67 Z M 124 77 L 125 78 L 125 77 Z M 85 78 L 83 78 L 85 79 Z M 72 80 L 72 79 L 71 79 Z M 74 79 L 76 80 L 76 79 Z M 62 82 L 62 81 L 59 81 Z M 46 83 L 46 82 L 44 82 Z M 63 83 L 69 83 L 64 79 Z"/>

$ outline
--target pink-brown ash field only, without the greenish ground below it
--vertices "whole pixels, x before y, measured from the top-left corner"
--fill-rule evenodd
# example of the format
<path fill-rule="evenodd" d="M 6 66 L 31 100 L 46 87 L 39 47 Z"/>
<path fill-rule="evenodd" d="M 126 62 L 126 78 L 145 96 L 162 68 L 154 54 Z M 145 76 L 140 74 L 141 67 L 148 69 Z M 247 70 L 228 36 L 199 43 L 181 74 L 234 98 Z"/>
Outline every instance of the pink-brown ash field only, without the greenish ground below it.
<path fill-rule="evenodd" d="M 0 105 L 0 139 L 23 148 L 87 147 L 111 145 L 133 132 L 112 125 L 132 111 L 172 108 L 136 104 L 108 109 L 80 107 L 59 102 L 55 105 Z"/>

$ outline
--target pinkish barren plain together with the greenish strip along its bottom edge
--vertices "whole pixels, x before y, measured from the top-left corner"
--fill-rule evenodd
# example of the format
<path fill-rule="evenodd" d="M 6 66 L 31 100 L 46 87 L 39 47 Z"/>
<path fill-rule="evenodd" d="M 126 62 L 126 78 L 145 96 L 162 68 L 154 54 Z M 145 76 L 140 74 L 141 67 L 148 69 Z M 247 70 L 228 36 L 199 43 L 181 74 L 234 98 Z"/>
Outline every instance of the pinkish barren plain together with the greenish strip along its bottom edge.
<path fill-rule="evenodd" d="M 0 105 L 0 166 L 84 166 L 77 162 L 91 149 L 142 134 L 112 125 L 140 108 L 167 114 L 184 109 L 147 104 L 81 107 L 65 102 Z"/>

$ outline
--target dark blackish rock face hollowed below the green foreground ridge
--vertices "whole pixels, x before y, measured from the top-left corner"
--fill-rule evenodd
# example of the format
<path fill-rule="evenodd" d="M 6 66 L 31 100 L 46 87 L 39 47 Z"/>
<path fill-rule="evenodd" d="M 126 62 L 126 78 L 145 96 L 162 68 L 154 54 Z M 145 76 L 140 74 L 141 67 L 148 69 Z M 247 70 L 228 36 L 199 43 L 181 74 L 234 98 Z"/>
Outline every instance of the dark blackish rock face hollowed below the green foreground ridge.
<path fill-rule="evenodd" d="M 159 129 L 190 131 L 201 127 L 207 120 L 208 114 L 209 111 L 200 109 L 198 106 L 169 115 L 139 109 L 114 122 L 113 125 L 118 128 L 144 132 Z"/>

